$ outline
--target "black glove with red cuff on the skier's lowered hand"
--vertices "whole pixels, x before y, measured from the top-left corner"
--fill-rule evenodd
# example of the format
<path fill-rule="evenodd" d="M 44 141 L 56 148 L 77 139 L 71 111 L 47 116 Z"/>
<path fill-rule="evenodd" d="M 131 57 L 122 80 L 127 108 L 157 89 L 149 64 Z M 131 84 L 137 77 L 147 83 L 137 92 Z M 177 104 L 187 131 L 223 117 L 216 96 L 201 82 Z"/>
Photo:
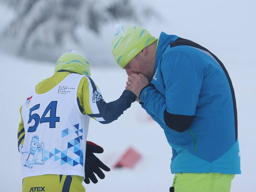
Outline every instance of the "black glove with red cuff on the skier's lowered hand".
<path fill-rule="evenodd" d="M 85 165 L 84 165 L 84 172 L 85 172 L 85 179 L 84 182 L 86 184 L 90 183 L 90 180 L 93 183 L 97 183 L 98 180 L 94 173 L 98 175 L 100 179 L 104 179 L 105 175 L 101 171 L 110 171 L 109 167 L 103 164 L 100 159 L 98 159 L 93 153 L 103 153 L 103 148 L 99 145 L 91 141 L 86 141 L 86 154 L 85 154 Z M 101 168 L 101 169 L 100 169 Z"/>

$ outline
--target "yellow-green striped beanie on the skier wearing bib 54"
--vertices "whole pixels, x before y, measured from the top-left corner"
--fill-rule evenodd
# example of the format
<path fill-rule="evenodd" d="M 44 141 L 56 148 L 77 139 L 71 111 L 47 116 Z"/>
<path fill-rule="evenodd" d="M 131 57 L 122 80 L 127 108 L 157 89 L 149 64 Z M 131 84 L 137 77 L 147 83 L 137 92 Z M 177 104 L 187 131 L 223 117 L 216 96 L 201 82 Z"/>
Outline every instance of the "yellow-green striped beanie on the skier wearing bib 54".
<path fill-rule="evenodd" d="M 68 70 L 81 75 L 91 75 L 90 64 L 86 57 L 76 51 L 66 52 L 57 60 L 54 73 L 59 70 Z"/>

